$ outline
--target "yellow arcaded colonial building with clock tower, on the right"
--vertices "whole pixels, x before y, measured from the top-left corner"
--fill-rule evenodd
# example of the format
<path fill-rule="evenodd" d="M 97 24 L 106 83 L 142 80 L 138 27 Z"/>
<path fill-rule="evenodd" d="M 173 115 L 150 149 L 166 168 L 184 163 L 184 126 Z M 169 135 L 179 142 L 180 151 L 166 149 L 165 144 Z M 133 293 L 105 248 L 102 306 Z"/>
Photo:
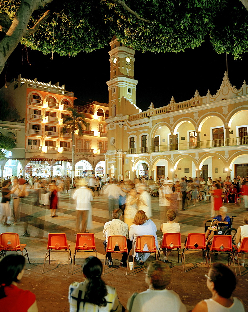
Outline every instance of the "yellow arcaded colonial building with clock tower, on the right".
<path fill-rule="evenodd" d="M 119 179 L 147 174 L 156 179 L 248 175 L 248 85 L 232 86 L 225 72 L 214 95 L 146 111 L 136 106 L 134 54 L 110 42 L 108 151 L 106 170 Z"/>

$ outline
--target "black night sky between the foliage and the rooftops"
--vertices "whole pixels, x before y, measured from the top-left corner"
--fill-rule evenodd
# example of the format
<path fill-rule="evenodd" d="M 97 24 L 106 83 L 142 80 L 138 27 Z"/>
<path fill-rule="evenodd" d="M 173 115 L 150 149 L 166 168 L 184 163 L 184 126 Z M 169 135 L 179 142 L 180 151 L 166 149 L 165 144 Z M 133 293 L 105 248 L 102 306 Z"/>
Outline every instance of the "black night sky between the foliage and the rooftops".
<path fill-rule="evenodd" d="M 65 84 L 67 91 L 73 91 L 78 98 L 75 105 L 84 105 L 93 100 L 108 103 L 106 81 L 110 79 L 110 46 L 91 53 L 81 52 L 76 57 L 59 56 L 54 53 L 44 56 L 21 44 L 7 61 L 8 66 L 0 75 L 0 86 L 7 81 L 23 78 Z M 239 89 L 243 80 L 248 83 L 248 55 L 234 61 L 227 56 L 228 76 L 232 85 Z M 226 70 L 226 55 L 218 55 L 206 41 L 198 48 L 180 53 L 152 53 L 136 51 L 134 78 L 138 80 L 136 105 L 147 110 L 151 102 L 155 107 L 168 104 L 171 96 L 176 102 L 191 99 L 195 90 L 206 95 L 208 89 L 213 95 L 219 89 Z"/>

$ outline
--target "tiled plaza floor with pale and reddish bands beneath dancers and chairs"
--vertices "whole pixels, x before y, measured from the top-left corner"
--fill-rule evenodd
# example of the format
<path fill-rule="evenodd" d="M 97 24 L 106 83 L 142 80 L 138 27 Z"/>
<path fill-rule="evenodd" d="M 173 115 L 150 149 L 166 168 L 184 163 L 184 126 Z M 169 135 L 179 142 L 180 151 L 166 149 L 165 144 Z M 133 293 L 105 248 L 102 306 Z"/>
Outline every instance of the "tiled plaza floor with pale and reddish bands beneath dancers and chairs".
<path fill-rule="evenodd" d="M 193 207 L 189 201 L 189 210 L 180 211 L 177 222 L 181 227 L 181 242 L 185 242 L 185 238 L 189 232 L 204 232 L 204 222 L 210 219 L 210 202 L 200 201 Z M 240 204 L 226 204 L 228 215 L 236 215 L 233 227 L 237 228 L 243 224 L 243 216 L 245 209 Z M 75 204 L 71 199 L 71 191 L 61 194 L 58 205 L 58 217 L 50 218 L 49 206 L 36 207 L 33 205 L 33 198 L 27 197 L 22 199 L 20 210 L 23 214 L 32 217 L 29 220 L 28 232 L 30 237 L 23 236 L 23 222 L 19 221 L 16 226 L 10 227 L 0 226 L 2 232 L 15 232 L 20 236 L 21 243 L 27 244 L 27 250 L 31 264 L 26 265 L 26 271 L 20 287 L 33 291 L 37 297 L 39 311 L 69 311 L 68 306 L 68 286 L 74 280 L 82 280 L 81 265 L 82 258 L 94 253 L 85 253 L 77 255 L 74 274 L 67 273 L 67 253 L 52 253 L 51 265 L 47 260 L 44 274 L 42 266 L 47 248 L 47 237 L 50 232 L 66 233 L 68 243 L 71 244 L 73 253 L 75 247 Z M 152 220 L 160 227 L 158 198 L 152 197 Z M 92 202 L 92 218 L 93 229 L 90 232 L 95 234 L 97 256 L 104 259 L 105 251 L 102 242 L 104 237 L 102 231 L 105 222 L 108 219 L 108 199 L 104 195 L 95 196 Z M 12 219 L 10 220 L 12 222 Z M 158 236 L 161 233 L 157 232 Z M 116 287 L 121 303 L 126 306 L 127 299 L 133 292 L 144 291 L 147 289 L 144 283 L 143 269 L 135 268 L 135 274 L 126 276 L 126 270 L 119 268 L 120 256 L 113 256 L 114 266 L 105 270 L 103 279 L 109 285 Z M 119 260 L 118 260 L 119 259 Z M 148 261 L 154 260 L 150 257 Z M 213 261 L 225 261 L 227 257 L 213 256 Z M 248 263 L 248 261 L 246 261 Z M 184 273 L 181 264 L 177 263 L 176 253 L 171 253 L 169 258 L 169 266 L 172 270 L 172 281 L 169 289 L 176 291 L 182 301 L 187 306 L 187 311 L 191 310 L 194 305 L 201 299 L 210 296 L 210 292 L 206 288 L 206 280 L 204 274 L 207 273 L 207 266 L 202 263 L 202 254 L 194 252 L 186 255 L 186 269 Z M 233 270 L 233 265 L 231 266 Z M 236 266 L 238 272 L 238 266 Z M 71 272 L 71 265 L 70 265 Z M 248 274 L 247 264 L 245 268 L 241 268 L 241 276 L 237 277 L 238 285 L 235 295 L 240 297 L 245 305 L 248 306 L 247 285 Z M 248 310 L 247 310 L 248 311 Z"/>

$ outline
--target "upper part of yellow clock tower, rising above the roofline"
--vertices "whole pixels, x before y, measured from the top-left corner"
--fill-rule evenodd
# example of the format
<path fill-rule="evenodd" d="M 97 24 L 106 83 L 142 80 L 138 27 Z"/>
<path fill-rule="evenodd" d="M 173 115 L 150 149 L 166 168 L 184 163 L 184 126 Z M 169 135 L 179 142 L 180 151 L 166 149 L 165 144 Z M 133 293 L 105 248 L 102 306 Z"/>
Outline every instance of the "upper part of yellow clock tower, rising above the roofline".
<path fill-rule="evenodd" d="M 140 112 L 136 106 L 136 85 L 133 78 L 135 51 L 117 40 L 110 42 L 109 117 Z"/>

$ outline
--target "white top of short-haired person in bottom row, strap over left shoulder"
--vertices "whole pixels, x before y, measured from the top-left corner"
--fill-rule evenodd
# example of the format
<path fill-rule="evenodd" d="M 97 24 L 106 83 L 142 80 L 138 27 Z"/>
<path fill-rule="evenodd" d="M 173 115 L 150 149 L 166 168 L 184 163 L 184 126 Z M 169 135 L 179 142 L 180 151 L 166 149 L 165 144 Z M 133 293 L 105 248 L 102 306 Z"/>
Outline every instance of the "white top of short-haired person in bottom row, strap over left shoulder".
<path fill-rule="evenodd" d="M 127 303 L 129 310 L 131 297 Z M 186 307 L 175 291 L 147 289 L 133 300 L 132 312 L 186 312 Z M 216 310 L 217 311 L 217 310 Z"/>

